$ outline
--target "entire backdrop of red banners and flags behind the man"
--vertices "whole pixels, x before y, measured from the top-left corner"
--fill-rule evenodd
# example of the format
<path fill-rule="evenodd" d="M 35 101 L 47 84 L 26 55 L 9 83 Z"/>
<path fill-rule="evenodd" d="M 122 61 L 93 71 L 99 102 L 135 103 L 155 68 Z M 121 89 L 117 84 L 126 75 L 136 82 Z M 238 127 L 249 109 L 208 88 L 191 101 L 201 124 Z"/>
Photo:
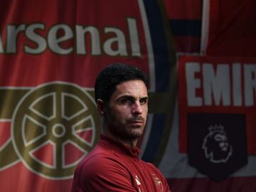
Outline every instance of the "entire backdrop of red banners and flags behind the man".
<path fill-rule="evenodd" d="M 138 146 L 171 191 L 256 190 L 254 1 L 0 5 L 1 191 L 70 191 L 100 136 L 93 87 L 110 63 L 149 75 Z"/>

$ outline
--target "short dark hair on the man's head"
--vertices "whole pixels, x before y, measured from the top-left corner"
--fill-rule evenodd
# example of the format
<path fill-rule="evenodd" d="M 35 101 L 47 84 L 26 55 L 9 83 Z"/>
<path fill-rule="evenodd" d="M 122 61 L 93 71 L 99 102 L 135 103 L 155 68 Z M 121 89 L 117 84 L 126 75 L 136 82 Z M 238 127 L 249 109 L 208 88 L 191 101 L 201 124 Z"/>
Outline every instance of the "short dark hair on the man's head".
<path fill-rule="evenodd" d="M 104 68 L 95 81 L 95 101 L 98 99 L 109 102 L 116 86 L 127 80 L 142 80 L 147 88 L 148 76 L 130 65 L 114 63 Z"/>

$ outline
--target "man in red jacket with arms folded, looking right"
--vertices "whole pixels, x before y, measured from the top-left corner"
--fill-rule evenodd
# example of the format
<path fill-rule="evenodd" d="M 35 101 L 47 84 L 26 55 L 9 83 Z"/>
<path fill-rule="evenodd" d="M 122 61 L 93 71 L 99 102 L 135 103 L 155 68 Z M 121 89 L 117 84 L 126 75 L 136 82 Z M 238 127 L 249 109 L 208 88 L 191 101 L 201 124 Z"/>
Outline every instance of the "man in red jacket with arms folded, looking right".
<path fill-rule="evenodd" d="M 95 101 L 103 120 L 100 142 L 80 162 L 72 192 L 170 191 L 153 164 L 139 159 L 137 141 L 148 112 L 148 78 L 129 65 L 102 70 L 95 82 Z"/>

